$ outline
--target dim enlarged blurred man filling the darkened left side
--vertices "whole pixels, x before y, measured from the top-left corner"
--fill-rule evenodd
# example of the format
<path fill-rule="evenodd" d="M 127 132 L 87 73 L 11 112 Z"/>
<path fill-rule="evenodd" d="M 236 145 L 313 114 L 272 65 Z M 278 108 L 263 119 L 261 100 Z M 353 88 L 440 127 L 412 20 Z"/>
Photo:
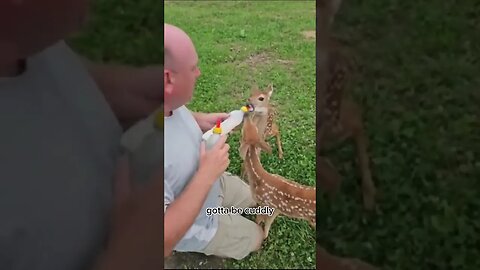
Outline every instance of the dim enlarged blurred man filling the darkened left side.
<path fill-rule="evenodd" d="M 83 61 L 63 39 L 87 2 L 0 1 L 0 269 L 163 267 L 161 177 L 132 192 L 117 164 L 122 129 L 162 102 L 162 68 Z"/>

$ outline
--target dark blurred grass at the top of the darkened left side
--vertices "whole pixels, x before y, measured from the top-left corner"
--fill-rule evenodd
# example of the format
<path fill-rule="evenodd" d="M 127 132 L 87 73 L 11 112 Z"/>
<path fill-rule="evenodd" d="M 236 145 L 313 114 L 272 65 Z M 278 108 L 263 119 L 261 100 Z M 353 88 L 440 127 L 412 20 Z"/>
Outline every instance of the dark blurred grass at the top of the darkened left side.
<path fill-rule="evenodd" d="M 95 0 L 88 23 L 69 44 L 98 62 L 142 66 L 163 63 L 163 3 Z"/>

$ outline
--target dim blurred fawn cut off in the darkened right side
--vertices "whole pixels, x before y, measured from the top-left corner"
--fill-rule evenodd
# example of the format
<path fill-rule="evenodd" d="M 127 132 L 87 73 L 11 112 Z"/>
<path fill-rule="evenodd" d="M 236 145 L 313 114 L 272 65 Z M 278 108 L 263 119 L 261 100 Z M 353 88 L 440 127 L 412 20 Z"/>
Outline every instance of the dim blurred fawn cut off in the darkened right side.
<path fill-rule="evenodd" d="M 334 142 L 340 143 L 347 138 L 353 138 L 362 174 L 363 204 L 366 209 L 372 210 L 375 206 L 376 188 L 370 172 L 368 138 L 363 126 L 362 111 L 344 91 L 352 65 L 340 43 L 329 33 L 340 3 L 339 0 L 323 1 L 325 6 L 320 9 L 323 13 L 320 17 L 324 22 L 319 24 L 320 46 L 317 54 L 321 59 L 319 73 L 323 77 L 319 81 L 321 88 L 318 93 L 321 104 L 320 110 L 317 110 L 317 159 L 320 170 L 323 168 L 326 172 L 320 172 L 318 182 L 327 188 L 327 192 L 338 189 L 340 177 L 320 152 L 331 148 Z"/>

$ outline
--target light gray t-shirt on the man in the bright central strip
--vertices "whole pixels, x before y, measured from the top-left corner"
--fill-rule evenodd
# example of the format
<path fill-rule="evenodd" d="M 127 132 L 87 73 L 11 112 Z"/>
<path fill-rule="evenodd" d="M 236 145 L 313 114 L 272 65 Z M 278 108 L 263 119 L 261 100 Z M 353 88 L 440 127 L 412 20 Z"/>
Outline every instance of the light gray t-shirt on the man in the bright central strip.
<path fill-rule="evenodd" d="M 202 131 L 191 112 L 182 106 L 165 117 L 165 189 L 166 211 L 188 185 L 198 169 Z M 217 231 L 218 216 L 206 215 L 207 207 L 220 205 L 220 181 L 212 186 L 195 223 L 175 246 L 177 251 L 199 251 Z"/>

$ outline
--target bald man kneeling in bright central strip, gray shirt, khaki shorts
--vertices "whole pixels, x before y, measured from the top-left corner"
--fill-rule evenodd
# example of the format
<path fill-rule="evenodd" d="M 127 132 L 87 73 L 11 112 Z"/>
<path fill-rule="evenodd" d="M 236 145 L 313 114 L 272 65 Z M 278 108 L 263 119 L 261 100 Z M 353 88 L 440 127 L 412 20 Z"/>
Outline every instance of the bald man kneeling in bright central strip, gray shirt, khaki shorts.
<path fill-rule="evenodd" d="M 165 255 L 172 250 L 243 259 L 262 244 L 262 228 L 241 215 L 207 215 L 208 208 L 253 207 L 249 186 L 225 172 L 226 138 L 205 152 L 202 134 L 222 113 L 191 112 L 187 104 L 200 76 L 192 40 L 165 24 Z"/>

